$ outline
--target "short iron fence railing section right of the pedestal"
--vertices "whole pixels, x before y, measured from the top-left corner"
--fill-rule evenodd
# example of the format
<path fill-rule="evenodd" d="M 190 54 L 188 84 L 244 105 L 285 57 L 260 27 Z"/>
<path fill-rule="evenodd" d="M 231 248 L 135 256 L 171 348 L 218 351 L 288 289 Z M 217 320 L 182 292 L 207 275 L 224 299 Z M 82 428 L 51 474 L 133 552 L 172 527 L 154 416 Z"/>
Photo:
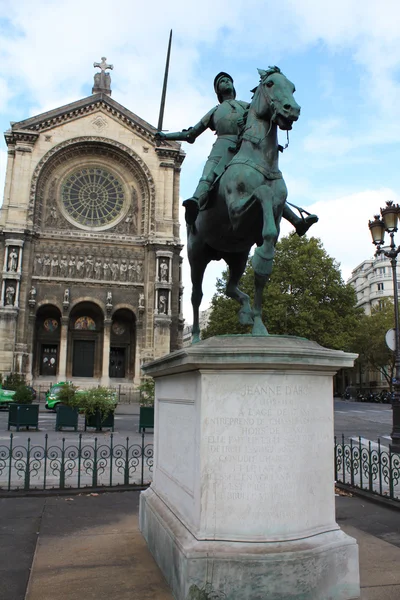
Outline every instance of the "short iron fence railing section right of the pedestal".
<path fill-rule="evenodd" d="M 335 481 L 400 501 L 400 454 L 359 437 L 335 437 Z"/>

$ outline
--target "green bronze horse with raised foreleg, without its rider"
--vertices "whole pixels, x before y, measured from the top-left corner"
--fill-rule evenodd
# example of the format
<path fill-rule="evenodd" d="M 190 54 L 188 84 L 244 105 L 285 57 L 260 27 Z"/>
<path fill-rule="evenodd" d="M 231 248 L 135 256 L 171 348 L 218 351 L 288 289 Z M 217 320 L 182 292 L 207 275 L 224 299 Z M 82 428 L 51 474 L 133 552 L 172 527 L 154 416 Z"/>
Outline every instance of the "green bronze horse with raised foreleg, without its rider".
<path fill-rule="evenodd" d="M 278 67 L 258 69 L 260 83 L 253 90 L 239 150 L 210 191 L 205 209 L 187 227 L 192 280 L 192 343 L 200 340 L 199 307 L 208 263 L 224 259 L 229 267 L 225 293 L 240 304 L 239 321 L 252 325 L 252 335 L 265 336 L 262 295 L 272 271 L 275 245 L 287 188 L 278 168 L 278 127 L 289 131 L 300 115 L 295 86 Z M 238 144 L 238 145 L 239 145 Z M 252 246 L 254 305 L 238 285 Z"/>

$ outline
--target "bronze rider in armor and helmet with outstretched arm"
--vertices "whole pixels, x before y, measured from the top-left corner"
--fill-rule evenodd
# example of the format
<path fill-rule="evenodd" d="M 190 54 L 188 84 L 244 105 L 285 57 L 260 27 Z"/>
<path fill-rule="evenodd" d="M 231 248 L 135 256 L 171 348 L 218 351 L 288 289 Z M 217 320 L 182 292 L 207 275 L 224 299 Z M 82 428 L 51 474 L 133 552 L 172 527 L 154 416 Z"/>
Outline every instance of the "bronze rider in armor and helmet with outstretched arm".
<path fill-rule="evenodd" d="M 199 213 L 205 208 L 208 194 L 214 183 L 225 170 L 227 164 L 236 153 L 239 129 L 243 124 L 243 118 L 249 104 L 236 100 L 236 90 L 233 79 L 228 73 L 218 73 L 214 79 L 214 90 L 217 94 L 219 105 L 212 108 L 194 127 L 184 129 L 175 133 L 157 132 L 158 140 L 169 139 L 189 142 L 193 144 L 196 138 L 206 129 L 215 131 L 217 140 L 211 149 L 211 153 L 204 166 L 202 176 L 192 196 L 183 202 L 186 209 L 185 218 L 192 225 Z M 297 207 L 296 207 L 297 208 Z M 300 217 L 296 215 L 285 203 L 283 217 L 289 221 L 299 236 L 304 235 L 308 229 L 318 221 L 316 215 L 309 214 L 306 210 L 299 208 Z M 307 216 L 304 217 L 303 214 Z"/>

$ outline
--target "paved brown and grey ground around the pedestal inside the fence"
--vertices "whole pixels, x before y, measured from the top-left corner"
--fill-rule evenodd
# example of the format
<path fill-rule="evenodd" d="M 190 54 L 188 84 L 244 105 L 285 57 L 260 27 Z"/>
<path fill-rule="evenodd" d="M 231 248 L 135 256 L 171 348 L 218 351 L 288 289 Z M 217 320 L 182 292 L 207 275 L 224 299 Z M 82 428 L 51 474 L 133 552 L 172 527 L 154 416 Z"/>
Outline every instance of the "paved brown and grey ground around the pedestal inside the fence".
<path fill-rule="evenodd" d="M 360 546 L 361 600 L 399 600 L 400 508 L 336 500 Z M 0 600 L 173 600 L 138 505 L 134 491 L 0 499 Z"/>

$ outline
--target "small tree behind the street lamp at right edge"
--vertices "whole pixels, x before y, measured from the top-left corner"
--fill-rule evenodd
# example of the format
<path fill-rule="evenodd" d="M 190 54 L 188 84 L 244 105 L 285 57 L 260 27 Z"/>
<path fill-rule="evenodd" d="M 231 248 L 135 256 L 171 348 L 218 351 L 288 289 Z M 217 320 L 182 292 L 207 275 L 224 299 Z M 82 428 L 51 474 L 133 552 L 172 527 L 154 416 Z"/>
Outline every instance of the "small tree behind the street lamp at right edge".
<path fill-rule="evenodd" d="M 380 301 L 371 315 L 363 315 L 354 336 L 353 350 L 359 354 L 357 363 L 362 369 L 382 373 L 392 391 L 395 353 L 388 348 L 385 334 L 394 327 L 394 306 L 389 298 Z"/>

